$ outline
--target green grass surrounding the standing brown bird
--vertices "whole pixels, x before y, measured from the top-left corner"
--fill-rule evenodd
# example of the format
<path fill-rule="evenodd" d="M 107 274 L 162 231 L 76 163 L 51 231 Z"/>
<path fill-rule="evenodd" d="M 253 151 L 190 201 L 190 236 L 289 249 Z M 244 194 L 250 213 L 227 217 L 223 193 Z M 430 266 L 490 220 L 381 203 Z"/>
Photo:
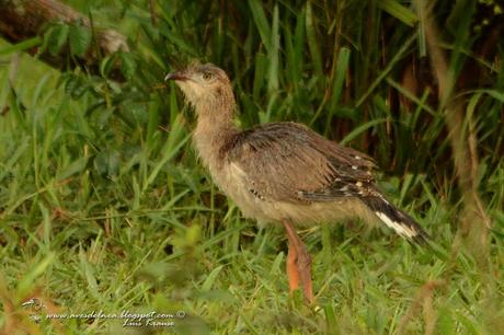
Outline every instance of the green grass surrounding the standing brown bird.
<path fill-rule="evenodd" d="M 491 85 L 462 92 L 477 128 L 479 190 L 493 223 L 481 263 L 457 229 L 460 189 L 443 114 L 432 92 L 415 95 L 398 79 L 422 34 L 412 31 L 410 10 L 397 4 L 366 7 L 369 16 L 350 22 L 345 13 L 359 13 L 352 1 L 336 1 L 334 18 L 318 2 L 237 1 L 230 8 L 250 14 L 238 24 L 232 14 L 217 15 L 229 8 L 160 1 L 159 27 L 145 4 L 124 4 L 125 30 L 142 30 L 130 33 L 142 71 L 122 85 L 79 69 L 60 73 L 27 56 L 18 66 L 12 55 L 2 58 L 2 332 L 502 333 L 502 71 L 492 72 Z M 204 11 L 216 19 L 202 23 Z M 383 51 L 377 32 L 390 22 L 398 28 Z M 303 122 L 376 157 L 386 171 L 380 185 L 433 235 L 433 247 L 359 221 L 303 229 L 318 305 L 307 307 L 299 292 L 289 297 L 284 231 L 242 219 L 218 192 L 191 149 L 192 114 L 174 86 L 159 86 L 181 53 L 210 55 L 234 73 L 243 125 Z M 398 113 L 392 91 L 413 107 Z M 33 297 L 42 311 L 22 305 Z M 175 325 L 33 320 L 93 311 L 171 313 Z"/>

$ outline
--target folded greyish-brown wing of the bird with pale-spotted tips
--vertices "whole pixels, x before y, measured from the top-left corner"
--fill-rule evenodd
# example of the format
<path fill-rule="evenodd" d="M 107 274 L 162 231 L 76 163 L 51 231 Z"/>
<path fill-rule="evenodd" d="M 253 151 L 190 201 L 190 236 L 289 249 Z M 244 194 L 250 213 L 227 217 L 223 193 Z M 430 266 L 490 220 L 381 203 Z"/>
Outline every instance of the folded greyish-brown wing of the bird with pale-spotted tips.
<path fill-rule="evenodd" d="M 374 189 L 374 161 L 295 123 L 245 130 L 222 148 L 262 199 L 328 201 Z"/>

